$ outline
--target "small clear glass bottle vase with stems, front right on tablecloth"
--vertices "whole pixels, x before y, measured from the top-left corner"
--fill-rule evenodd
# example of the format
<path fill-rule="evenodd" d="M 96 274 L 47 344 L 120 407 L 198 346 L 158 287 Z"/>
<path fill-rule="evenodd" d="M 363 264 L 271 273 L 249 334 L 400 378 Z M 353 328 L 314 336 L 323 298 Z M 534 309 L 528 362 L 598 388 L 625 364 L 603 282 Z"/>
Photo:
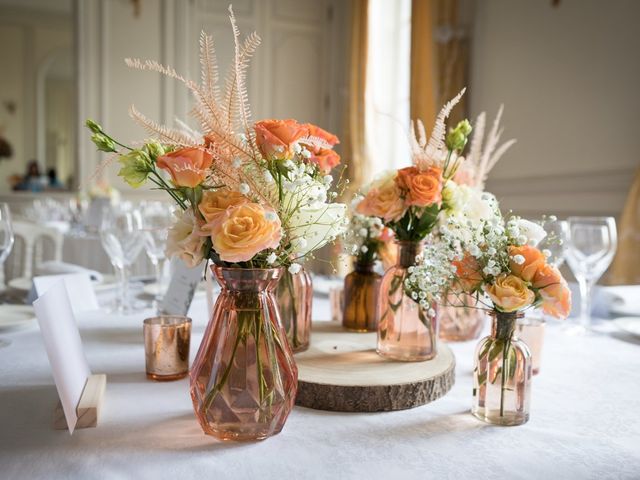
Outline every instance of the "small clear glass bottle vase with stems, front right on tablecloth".
<path fill-rule="evenodd" d="M 522 314 L 490 315 L 491 334 L 476 348 L 471 413 L 495 425 L 521 425 L 531 398 L 531 353 L 514 335 Z"/>

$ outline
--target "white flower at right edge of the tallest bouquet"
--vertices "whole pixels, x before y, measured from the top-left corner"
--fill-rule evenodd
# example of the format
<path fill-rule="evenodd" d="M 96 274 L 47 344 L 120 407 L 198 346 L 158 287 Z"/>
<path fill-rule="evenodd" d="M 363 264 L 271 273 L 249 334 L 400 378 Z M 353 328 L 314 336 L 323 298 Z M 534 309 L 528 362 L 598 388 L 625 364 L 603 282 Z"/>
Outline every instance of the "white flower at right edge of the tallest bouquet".
<path fill-rule="evenodd" d="M 296 252 L 298 255 L 317 250 L 333 241 L 345 231 L 347 206 L 343 203 L 325 203 L 315 208 L 297 210 L 289 221 L 292 237 L 304 238 L 307 244 Z"/>

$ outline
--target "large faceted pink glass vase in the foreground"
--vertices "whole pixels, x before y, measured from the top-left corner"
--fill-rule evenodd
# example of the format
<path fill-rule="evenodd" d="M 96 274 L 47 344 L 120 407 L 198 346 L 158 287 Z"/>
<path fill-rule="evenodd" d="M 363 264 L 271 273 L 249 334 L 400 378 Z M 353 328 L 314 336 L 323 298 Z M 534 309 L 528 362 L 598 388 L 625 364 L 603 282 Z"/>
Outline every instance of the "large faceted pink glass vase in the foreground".
<path fill-rule="evenodd" d="M 274 290 L 281 269 L 213 267 L 222 292 L 191 368 L 200 426 L 221 440 L 260 440 L 282 430 L 298 369 Z"/>

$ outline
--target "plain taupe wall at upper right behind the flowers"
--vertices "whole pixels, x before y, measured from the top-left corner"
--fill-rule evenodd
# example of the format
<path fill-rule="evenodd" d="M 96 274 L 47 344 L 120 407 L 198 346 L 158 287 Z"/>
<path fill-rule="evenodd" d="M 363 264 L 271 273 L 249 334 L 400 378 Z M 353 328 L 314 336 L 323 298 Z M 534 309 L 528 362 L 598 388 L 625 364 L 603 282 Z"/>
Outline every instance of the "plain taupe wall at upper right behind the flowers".
<path fill-rule="evenodd" d="M 488 188 L 538 215 L 622 210 L 640 166 L 640 2 L 476 3 L 470 100 L 518 143 Z"/>

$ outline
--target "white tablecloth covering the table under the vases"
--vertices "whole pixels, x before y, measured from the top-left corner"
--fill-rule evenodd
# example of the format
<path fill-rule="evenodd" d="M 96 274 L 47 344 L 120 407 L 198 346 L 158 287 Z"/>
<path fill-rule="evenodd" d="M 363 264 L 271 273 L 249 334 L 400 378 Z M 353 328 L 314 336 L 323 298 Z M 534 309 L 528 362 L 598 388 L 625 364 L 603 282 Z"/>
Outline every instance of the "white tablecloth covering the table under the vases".
<path fill-rule="evenodd" d="M 314 301 L 314 319 L 328 318 Z M 496 427 L 469 413 L 476 341 L 454 343 L 456 384 L 412 410 L 347 414 L 295 407 L 281 434 L 256 443 L 205 436 L 188 380 L 148 381 L 142 319 L 79 318 L 94 373 L 107 374 L 97 428 L 52 428 L 57 393 L 37 326 L 0 334 L 0 477 L 35 478 L 640 478 L 640 341 L 571 337 L 548 325 L 531 419 Z M 206 323 L 196 298 L 192 358 Z M 606 330 L 606 327 L 605 327 Z"/>

